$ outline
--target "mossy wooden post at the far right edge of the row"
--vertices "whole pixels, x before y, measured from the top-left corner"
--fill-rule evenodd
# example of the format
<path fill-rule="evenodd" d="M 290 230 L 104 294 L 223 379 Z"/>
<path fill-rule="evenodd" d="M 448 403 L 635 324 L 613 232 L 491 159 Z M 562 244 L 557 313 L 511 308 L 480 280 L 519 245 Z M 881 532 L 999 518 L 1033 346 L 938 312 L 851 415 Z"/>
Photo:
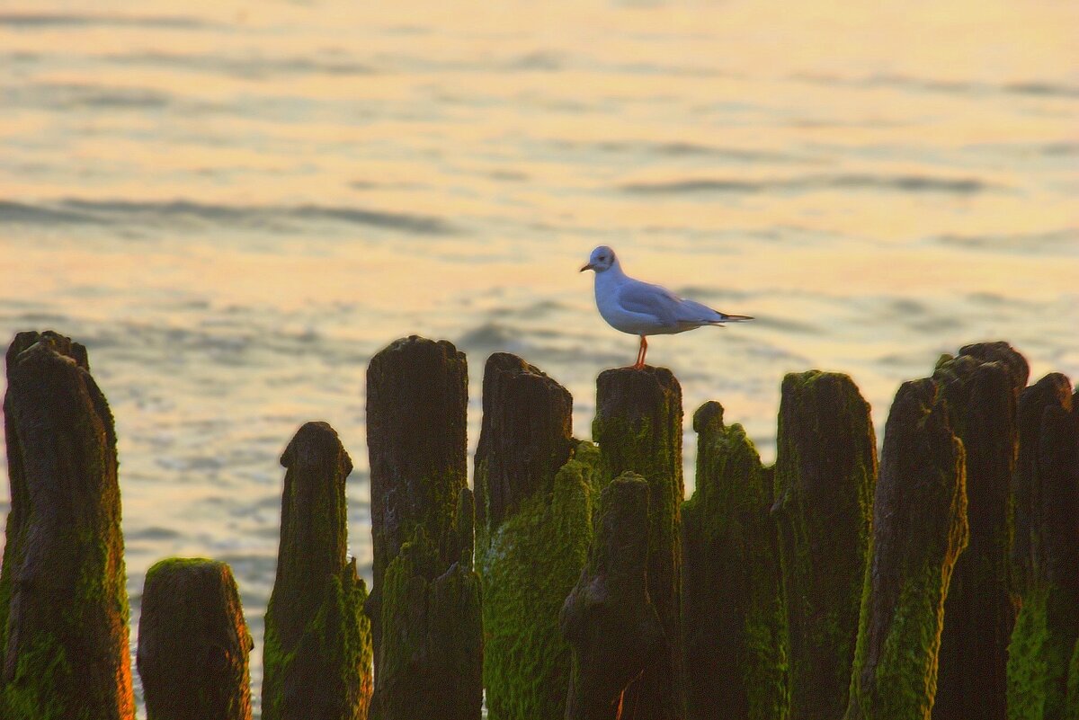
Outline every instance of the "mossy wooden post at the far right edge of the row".
<path fill-rule="evenodd" d="M 1014 555 L 1022 607 L 1008 657 L 1008 717 L 1075 717 L 1068 671 L 1079 637 L 1079 413 L 1058 373 L 1019 401 Z M 1075 680 L 1070 681 L 1073 686 Z"/>

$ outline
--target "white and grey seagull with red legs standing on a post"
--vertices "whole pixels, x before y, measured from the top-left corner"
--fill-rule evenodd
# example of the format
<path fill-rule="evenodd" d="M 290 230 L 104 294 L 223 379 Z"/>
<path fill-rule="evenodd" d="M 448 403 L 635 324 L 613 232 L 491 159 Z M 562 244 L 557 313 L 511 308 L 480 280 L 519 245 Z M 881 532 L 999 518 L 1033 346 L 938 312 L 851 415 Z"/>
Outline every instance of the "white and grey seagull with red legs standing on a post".
<path fill-rule="evenodd" d="M 647 335 L 669 335 L 702 326 L 722 328 L 724 322 L 752 320 L 748 315 L 727 315 L 693 300 L 683 300 L 667 288 L 642 282 L 622 269 L 614 250 L 605 245 L 592 250 L 581 268 L 596 272 L 596 307 L 607 324 L 624 333 L 641 336 L 634 370 L 644 368 Z"/>

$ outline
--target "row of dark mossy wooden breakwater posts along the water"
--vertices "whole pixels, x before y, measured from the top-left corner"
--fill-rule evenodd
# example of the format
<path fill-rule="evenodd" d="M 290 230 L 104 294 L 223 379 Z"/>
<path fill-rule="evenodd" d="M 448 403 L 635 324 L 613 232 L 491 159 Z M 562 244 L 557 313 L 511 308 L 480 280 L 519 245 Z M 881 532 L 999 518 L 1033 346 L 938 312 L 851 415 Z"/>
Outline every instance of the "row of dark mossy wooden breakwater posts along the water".
<path fill-rule="evenodd" d="M 0 718 L 134 718 L 111 413 L 67 337 L 19 333 L 6 361 Z M 783 379 L 774 467 L 706 403 L 683 500 L 669 371 L 600 375 L 593 444 L 496 354 L 474 496 L 466 359 L 398 341 L 368 369 L 370 590 L 337 433 L 281 458 L 263 717 L 1077 720 L 1079 398 L 1027 375 L 1003 343 L 942 358 L 879 458 L 842 374 Z M 151 568 L 139 638 L 149 718 L 250 717 L 227 565 Z"/>

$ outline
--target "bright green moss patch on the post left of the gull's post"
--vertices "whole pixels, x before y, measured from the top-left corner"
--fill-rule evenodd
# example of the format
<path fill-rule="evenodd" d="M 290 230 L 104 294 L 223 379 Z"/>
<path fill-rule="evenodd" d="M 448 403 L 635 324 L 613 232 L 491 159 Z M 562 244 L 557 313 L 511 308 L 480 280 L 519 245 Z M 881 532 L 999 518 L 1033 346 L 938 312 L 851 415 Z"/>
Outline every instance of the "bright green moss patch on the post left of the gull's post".
<path fill-rule="evenodd" d="M 588 455 L 590 443 L 582 443 Z M 558 615 L 592 538 L 592 468 L 566 462 L 551 493 L 520 504 L 478 557 L 483 589 L 483 676 L 492 720 L 561 718 L 570 646 Z"/>

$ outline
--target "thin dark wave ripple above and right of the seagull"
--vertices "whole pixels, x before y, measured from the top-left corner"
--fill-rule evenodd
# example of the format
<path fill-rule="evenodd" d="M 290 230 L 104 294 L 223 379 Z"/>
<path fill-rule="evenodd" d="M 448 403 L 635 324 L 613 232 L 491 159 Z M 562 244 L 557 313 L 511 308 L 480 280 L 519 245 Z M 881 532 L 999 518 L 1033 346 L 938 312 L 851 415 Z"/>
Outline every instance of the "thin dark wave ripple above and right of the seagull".
<path fill-rule="evenodd" d="M 921 175 L 811 175 L 776 180 L 686 179 L 632 182 L 624 192 L 637 194 L 816 192 L 828 190 L 880 190 L 905 193 L 972 195 L 992 185 L 978 178 L 933 178 Z"/>

